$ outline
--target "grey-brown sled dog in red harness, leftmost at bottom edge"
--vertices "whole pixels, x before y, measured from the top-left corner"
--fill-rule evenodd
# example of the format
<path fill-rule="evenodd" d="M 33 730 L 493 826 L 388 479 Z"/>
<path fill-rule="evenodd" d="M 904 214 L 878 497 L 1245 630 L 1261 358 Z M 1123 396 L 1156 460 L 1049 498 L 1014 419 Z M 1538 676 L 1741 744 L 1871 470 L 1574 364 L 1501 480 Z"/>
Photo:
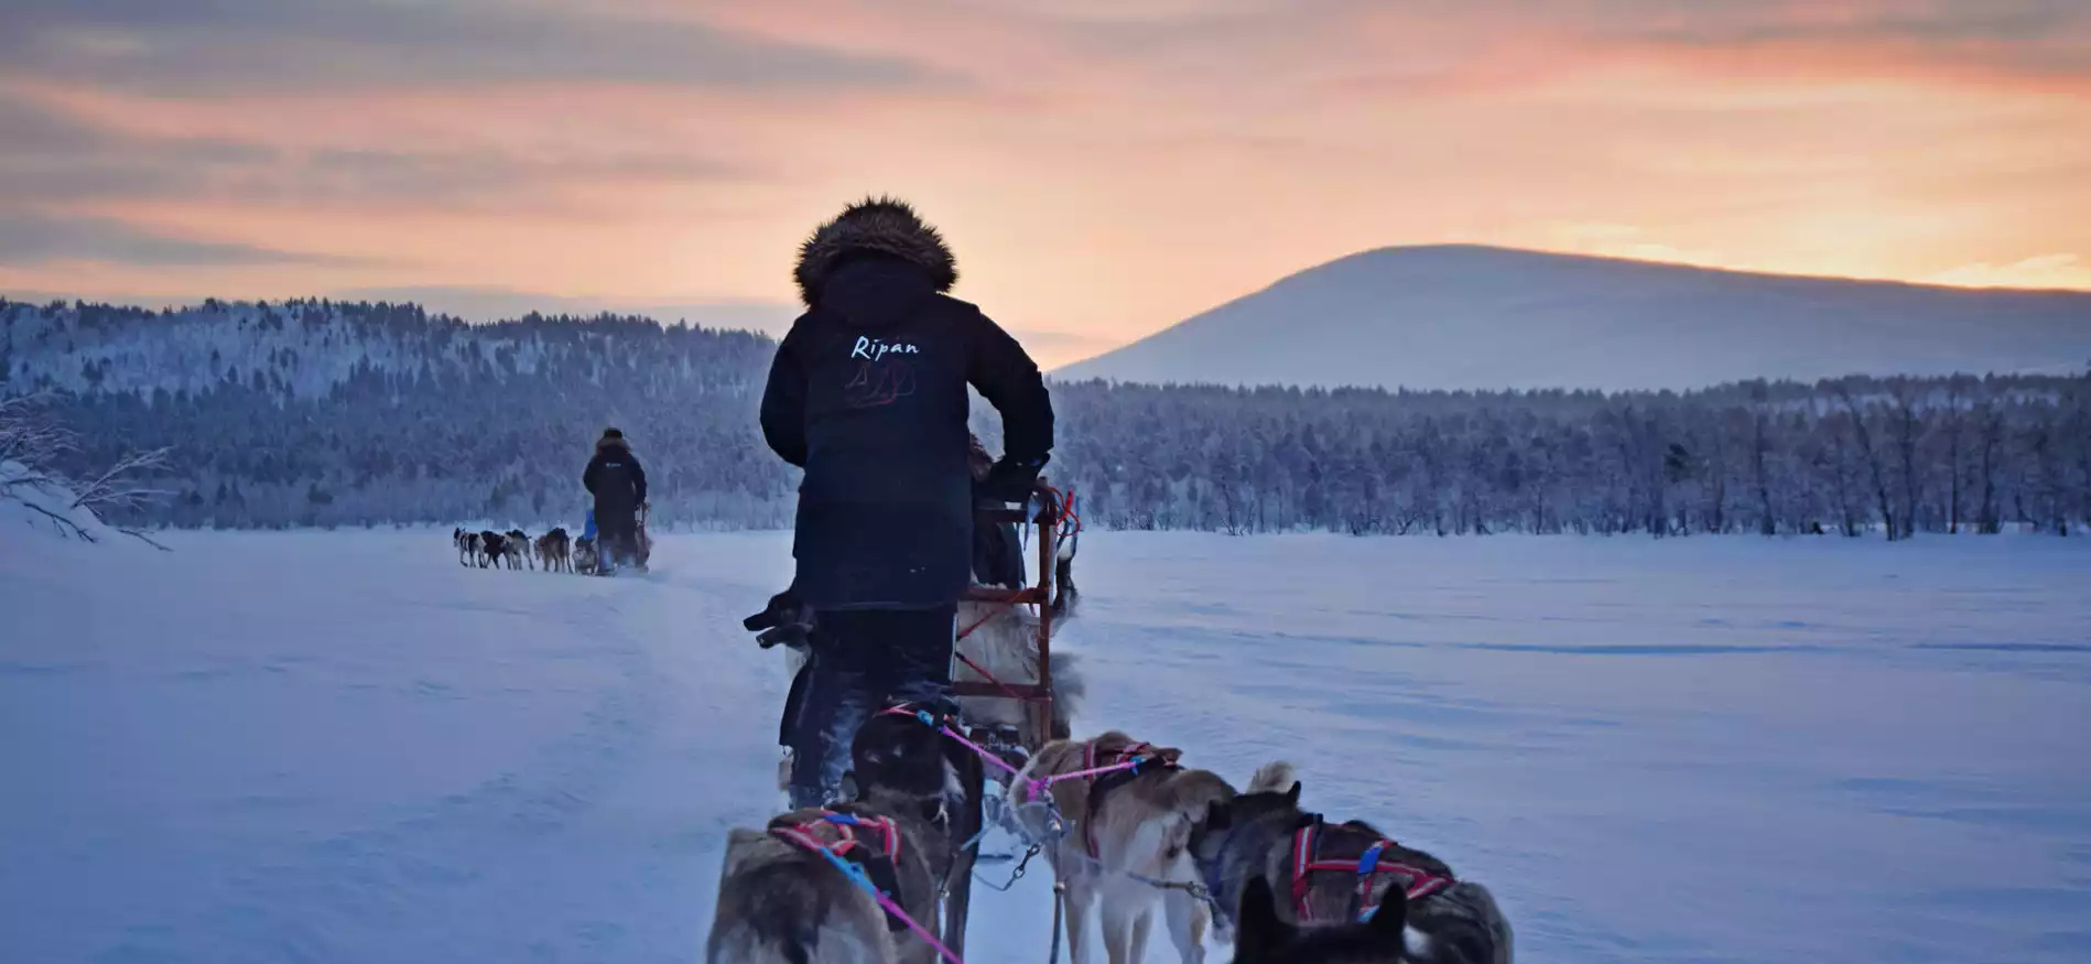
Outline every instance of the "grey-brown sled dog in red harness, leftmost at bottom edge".
<path fill-rule="evenodd" d="M 870 805 L 836 803 L 776 816 L 763 830 L 730 830 L 707 964 L 935 962 L 935 947 L 891 920 L 870 891 L 834 866 L 836 859 L 855 866 L 893 893 L 910 918 L 933 926 L 937 895 L 918 824 Z"/>

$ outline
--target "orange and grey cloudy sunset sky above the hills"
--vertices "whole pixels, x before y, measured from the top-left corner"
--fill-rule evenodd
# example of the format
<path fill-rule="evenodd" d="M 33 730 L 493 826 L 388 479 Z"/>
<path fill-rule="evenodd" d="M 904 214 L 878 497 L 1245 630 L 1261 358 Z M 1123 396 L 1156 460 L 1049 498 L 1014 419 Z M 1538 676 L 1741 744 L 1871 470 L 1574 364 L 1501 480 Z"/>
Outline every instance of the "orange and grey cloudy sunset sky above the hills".
<path fill-rule="evenodd" d="M 1041 362 L 1382 245 L 2091 289 L 2087 0 L 0 0 L 0 295 L 790 318 L 914 201 Z"/>

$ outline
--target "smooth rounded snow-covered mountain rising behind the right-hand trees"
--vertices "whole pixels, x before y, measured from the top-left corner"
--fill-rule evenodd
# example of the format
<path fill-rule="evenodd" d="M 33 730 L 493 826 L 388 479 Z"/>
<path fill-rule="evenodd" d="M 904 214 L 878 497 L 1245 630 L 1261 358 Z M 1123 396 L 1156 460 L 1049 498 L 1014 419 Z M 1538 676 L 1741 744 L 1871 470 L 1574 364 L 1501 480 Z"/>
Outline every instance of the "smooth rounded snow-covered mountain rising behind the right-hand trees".
<path fill-rule="evenodd" d="M 1292 274 L 1062 381 L 1692 389 L 1748 378 L 2064 374 L 2091 293 L 1721 272 L 1474 245 L 1388 247 Z"/>

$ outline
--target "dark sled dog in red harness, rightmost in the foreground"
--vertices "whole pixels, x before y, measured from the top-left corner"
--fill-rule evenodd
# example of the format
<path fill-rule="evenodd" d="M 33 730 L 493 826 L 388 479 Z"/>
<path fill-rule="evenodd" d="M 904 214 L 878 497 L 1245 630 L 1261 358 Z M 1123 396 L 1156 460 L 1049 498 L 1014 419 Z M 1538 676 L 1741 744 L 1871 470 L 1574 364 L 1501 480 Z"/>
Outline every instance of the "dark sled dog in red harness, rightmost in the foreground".
<path fill-rule="evenodd" d="M 1510 922 L 1487 887 L 1460 880 L 1453 870 L 1414 847 L 1403 847 L 1372 824 L 1324 822 L 1299 807 L 1301 784 L 1292 767 L 1271 763 L 1255 774 L 1248 790 L 1211 807 L 1194 828 L 1190 857 L 1219 908 L 1244 908 L 1253 878 L 1280 880 L 1278 901 L 1288 924 L 1349 924 L 1372 908 L 1405 912 L 1405 962 L 1510 964 Z M 1305 851 L 1305 853 L 1303 853 Z M 1374 868 L 1359 880 L 1357 868 Z M 1363 885 L 1363 889 L 1361 889 Z M 1303 958 L 1305 960 L 1305 958 Z"/>

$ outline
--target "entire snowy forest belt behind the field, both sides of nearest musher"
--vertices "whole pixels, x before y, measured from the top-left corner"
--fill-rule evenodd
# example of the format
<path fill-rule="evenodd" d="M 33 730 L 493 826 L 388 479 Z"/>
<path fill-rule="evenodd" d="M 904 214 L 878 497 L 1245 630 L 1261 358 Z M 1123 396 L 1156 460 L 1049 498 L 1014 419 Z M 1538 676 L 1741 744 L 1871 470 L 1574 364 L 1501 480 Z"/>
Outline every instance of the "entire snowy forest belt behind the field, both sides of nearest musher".
<path fill-rule="evenodd" d="M 667 527 L 786 527 L 755 427 L 774 343 L 642 318 L 470 326 L 385 303 L 0 301 L 0 397 L 111 464 L 169 447 L 130 525 L 573 525 L 617 424 Z M 1050 475 L 1092 527 L 1230 533 L 2070 533 L 2091 372 L 1694 393 L 1056 383 Z M 983 406 L 985 408 L 985 406 Z M 993 416 L 976 416 L 993 439 Z"/>

